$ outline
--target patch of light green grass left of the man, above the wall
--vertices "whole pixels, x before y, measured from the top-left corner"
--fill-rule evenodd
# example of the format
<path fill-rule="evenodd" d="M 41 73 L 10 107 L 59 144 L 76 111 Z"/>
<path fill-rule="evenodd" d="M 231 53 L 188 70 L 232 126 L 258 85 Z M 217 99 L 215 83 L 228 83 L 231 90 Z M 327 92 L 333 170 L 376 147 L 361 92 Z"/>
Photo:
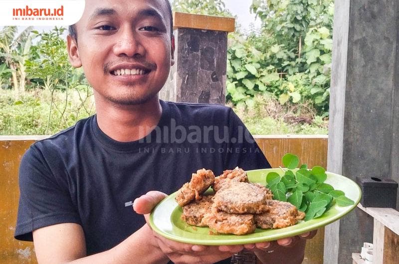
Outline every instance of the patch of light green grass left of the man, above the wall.
<path fill-rule="evenodd" d="M 65 111 L 65 91 L 35 89 L 17 96 L 12 90 L 0 90 L 0 135 L 51 135 L 95 112 L 89 86 L 70 87 Z M 60 111 L 51 111 L 52 107 Z M 62 110 L 61 110 L 62 109 Z"/>

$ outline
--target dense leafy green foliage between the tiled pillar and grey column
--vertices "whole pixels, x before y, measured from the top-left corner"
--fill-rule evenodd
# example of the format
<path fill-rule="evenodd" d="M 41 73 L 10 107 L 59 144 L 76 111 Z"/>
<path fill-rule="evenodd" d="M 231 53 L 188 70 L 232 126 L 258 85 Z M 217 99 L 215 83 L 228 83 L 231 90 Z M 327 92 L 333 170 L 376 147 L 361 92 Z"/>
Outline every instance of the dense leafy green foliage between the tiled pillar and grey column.
<path fill-rule="evenodd" d="M 333 0 L 253 0 L 261 34 L 230 37 L 227 99 L 272 94 L 281 104 L 310 101 L 328 115 Z"/>

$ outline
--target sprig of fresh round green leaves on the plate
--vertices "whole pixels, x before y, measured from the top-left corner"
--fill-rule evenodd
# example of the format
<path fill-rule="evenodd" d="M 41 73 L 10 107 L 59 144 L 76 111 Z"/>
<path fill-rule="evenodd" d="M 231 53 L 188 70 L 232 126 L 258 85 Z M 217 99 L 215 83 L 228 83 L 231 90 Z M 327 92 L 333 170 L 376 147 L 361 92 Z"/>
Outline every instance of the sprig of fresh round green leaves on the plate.
<path fill-rule="evenodd" d="M 287 153 L 283 156 L 284 175 L 271 172 L 266 176 L 266 187 L 273 192 L 273 198 L 287 201 L 295 205 L 299 211 L 305 212 L 305 221 L 322 216 L 335 203 L 339 206 L 352 205 L 355 202 L 345 196 L 341 190 L 324 181 L 326 170 L 315 166 L 311 170 L 306 164 L 299 165 L 298 156 Z"/>

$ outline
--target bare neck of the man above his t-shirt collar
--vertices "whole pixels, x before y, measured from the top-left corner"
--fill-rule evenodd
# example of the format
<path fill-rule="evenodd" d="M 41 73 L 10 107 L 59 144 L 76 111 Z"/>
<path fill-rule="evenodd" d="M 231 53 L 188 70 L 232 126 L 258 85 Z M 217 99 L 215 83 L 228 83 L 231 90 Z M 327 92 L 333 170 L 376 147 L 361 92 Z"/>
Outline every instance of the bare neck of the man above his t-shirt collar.
<path fill-rule="evenodd" d="M 162 107 L 158 96 L 129 106 L 116 106 L 96 100 L 97 123 L 101 131 L 120 142 L 139 140 L 159 123 Z"/>

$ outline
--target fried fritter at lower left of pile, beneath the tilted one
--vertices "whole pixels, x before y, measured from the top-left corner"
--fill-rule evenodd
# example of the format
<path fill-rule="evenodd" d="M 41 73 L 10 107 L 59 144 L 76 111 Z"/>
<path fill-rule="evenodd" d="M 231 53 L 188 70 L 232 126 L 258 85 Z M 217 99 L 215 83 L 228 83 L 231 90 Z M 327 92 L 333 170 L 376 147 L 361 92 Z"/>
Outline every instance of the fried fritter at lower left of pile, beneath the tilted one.
<path fill-rule="evenodd" d="M 212 206 L 213 195 L 202 196 L 202 199 L 192 201 L 191 203 L 183 207 L 182 219 L 189 225 L 193 226 L 207 226 L 203 223 L 203 216 L 210 213 L 210 207 Z"/>

